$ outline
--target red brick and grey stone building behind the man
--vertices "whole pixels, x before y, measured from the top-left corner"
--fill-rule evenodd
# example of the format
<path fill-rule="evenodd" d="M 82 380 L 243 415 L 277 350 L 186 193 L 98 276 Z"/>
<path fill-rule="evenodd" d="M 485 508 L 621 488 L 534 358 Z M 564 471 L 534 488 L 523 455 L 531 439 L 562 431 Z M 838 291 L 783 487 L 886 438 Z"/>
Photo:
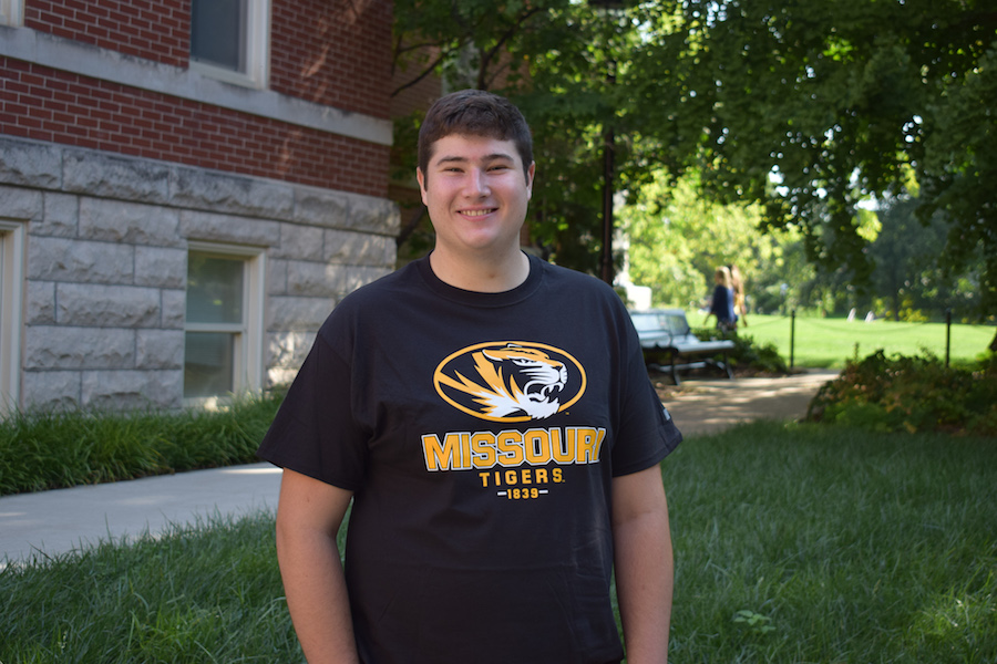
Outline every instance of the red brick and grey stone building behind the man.
<path fill-rule="evenodd" d="M 6 408 L 287 382 L 394 266 L 390 0 L 0 0 Z"/>

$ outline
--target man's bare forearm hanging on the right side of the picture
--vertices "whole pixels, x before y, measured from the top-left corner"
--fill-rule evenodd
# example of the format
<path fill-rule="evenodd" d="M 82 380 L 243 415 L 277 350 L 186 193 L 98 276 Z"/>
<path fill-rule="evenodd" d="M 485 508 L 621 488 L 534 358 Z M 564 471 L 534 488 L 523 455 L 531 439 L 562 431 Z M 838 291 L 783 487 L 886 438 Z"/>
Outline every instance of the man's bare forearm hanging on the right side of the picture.
<path fill-rule="evenodd" d="M 627 663 L 664 664 L 675 564 L 659 466 L 614 478 L 613 542 Z"/>

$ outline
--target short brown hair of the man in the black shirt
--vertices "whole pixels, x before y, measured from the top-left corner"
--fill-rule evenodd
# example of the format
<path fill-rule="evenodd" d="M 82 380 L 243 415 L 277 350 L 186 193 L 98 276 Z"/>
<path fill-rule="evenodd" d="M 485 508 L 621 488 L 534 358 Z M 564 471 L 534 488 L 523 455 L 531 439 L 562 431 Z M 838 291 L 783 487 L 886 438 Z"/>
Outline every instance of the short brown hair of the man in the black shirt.
<path fill-rule="evenodd" d="M 419 128 L 419 168 L 423 174 L 429 168 L 433 145 L 452 134 L 512 141 L 528 178 L 533 136 L 526 118 L 507 98 L 484 90 L 461 90 L 436 100 Z"/>

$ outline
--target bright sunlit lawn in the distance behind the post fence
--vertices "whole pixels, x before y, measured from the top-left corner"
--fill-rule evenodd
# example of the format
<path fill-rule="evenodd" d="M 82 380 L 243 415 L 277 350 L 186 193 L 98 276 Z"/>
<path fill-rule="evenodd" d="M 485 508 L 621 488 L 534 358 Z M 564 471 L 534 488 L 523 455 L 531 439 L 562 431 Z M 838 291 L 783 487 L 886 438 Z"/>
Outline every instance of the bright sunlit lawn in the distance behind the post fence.
<path fill-rule="evenodd" d="M 695 318 L 695 315 L 693 315 Z M 778 315 L 748 317 L 748 326 L 738 333 L 751 336 L 759 343 L 773 343 L 779 353 L 790 361 L 791 319 Z M 952 362 L 973 361 L 986 351 L 994 339 L 995 329 L 988 325 L 952 325 L 949 357 Z M 865 357 L 884 350 L 888 355 L 921 355 L 926 349 L 945 359 L 944 323 L 896 323 L 893 321 L 821 319 L 796 317 L 793 335 L 793 363 L 795 366 L 842 369 L 846 360 Z"/>

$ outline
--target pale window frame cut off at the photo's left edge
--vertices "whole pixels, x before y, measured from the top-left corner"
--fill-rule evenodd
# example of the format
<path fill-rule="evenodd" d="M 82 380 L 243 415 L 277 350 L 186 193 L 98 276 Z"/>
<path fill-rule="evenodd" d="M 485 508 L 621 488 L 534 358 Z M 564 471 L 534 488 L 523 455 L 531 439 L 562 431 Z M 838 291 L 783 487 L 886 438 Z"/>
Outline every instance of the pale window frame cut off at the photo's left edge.
<path fill-rule="evenodd" d="M 24 224 L 0 219 L 0 412 L 21 404 Z"/>

